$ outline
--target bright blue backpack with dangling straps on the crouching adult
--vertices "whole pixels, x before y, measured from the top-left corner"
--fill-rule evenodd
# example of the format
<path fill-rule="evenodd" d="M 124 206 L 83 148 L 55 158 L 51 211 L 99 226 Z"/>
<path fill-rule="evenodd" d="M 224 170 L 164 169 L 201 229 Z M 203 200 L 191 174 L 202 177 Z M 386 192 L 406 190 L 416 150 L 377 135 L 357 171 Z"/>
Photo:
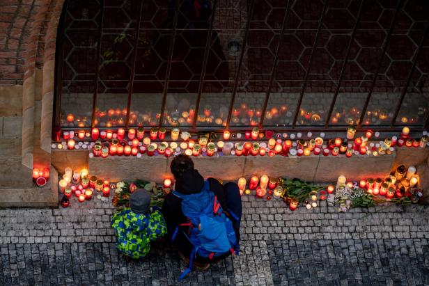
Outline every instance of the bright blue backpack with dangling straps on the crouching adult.
<path fill-rule="evenodd" d="M 200 257 L 212 259 L 225 255 L 228 252 L 238 255 L 237 238 L 230 218 L 238 220 L 233 212 L 224 212 L 217 201 L 217 197 L 210 191 L 210 183 L 204 182 L 203 189 L 199 193 L 184 195 L 173 191 L 173 195 L 182 198 L 182 212 L 187 216 L 188 222 L 180 226 L 187 226 L 188 231 L 183 232 L 189 239 L 192 247 L 189 257 L 189 267 L 179 280 L 192 271 L 192 260 L 198 254 Z M 179 227 L 173 233 L 172 240 L 178 235 Z"/>

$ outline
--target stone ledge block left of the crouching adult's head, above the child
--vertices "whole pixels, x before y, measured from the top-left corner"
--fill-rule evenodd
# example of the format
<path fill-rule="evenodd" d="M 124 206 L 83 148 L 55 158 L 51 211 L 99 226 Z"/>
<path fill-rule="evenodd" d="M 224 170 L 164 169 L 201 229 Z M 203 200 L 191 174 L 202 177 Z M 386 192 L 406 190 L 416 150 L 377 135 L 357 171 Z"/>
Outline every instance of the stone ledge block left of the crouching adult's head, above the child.
<path fill-rule="evenodd" d="M 89 173 L 100 176 L 102 179 L 111 180 L 136 180 L 146 179 L 162 182 L 167 171 L 166 157 L 109 157 L 90 158 L 88 160 Z"/>

